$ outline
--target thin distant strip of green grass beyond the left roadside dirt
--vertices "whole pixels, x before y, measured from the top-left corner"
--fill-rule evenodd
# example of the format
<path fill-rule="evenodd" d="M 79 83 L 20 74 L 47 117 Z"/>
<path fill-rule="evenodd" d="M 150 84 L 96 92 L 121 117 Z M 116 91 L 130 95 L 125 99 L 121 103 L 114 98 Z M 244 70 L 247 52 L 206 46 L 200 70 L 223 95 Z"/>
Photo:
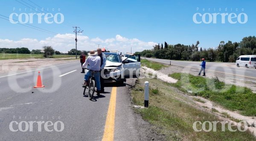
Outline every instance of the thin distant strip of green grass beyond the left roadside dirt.
<path fill-rule="evenodd" d="M 69 58 L 75 55 L 53 55 L 53 58 Z M 43 54 L 0 54 L 0 60 L 3 59 L 44 59 Z"/>

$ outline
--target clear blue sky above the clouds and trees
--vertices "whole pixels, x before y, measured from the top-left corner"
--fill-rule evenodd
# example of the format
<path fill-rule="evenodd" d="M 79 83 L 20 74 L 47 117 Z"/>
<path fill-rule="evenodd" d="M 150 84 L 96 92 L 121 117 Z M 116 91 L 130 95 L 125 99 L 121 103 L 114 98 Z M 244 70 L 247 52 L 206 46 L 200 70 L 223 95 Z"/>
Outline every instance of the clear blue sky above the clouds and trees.
<path fill-rule="evenodd" d="M 17 0 L 21 3 L 29 3 L 29 0 Z M 26 6 L 16 0 L 1 0 L 0 14 L 9 17 L 12 13 L 34 13 L 24 11 Z M 191 45 L 197 40 L 203 48 L 216 47 L 222 40 L 240 42 L 243 37 L 254 35 L 256 32 L 255 4 L 253 0 L 31 0 L 44 8 L 60 8 L 64 15 L 64 23 L 77 25 L 84 30 L 82 35 L 90 39 L 102 40 L 116 38 L 116 35 L 128 39 L 139 39 L 143 42 L 160 44 L 166 41 L 168 44 L 182 43 Z M 35 6 L 35 5 L 33 5 Z M 35 7 L 38 7 L 35 6 Z M 15 7 L 15 11 L 13 8 Z M 31 6 L 30 6 L 31 7 Z M 199 10 L 197 11 L 197 7 Z M 21 8 L 21 11 L 18 11 Z M 203 8 L 211 8 L 210 11 L 202 11 Z M 213 11 L 215 8 L 216 11 Z M 221 8 L 221 11 L 217 9 Z M 224 9 L 227 8 L 227 11 Z M 230 9 L 233 8 L 233 11 Z M 239 11 L 235 11 L 238 8 Z M 241 9 L 244 11 L 241 11 Z M 41 11 L 38 11 L 41 12 Z M 44 11 L 47 13 L 46 11 Z M 49 10 L 55 14 L 56 11 Z M 195 13 L 245 13 L 248 21 L 245 24 L 196 24 L 192 17 Z M 17 19 L 17 18 L 16 18 Z M 59 34 L 73 34 L 73 28 L 67 24 L 41 24 L 31 25 L 47 29 Z M 0 19 L 0 39 L 19 41 L 23 38 L 45 40 L 53 37 L 41 31 L 26 28 L 22 25 L 12 24 Z M 72 39 L 71 39 L 72 40 Z M 73 42 L 73 40 L 72 40 Z M 97 43 L 94 42 L 96 45 Z M 100 42 L 107 47 L 108 44 Z M 86 45 L 86 44 L 84 44 Z M 122 43 L 116 44 L 122 48 Z M 134 44 L 133 44 L 134 45 Z M 140 45 L 140 44 L 136 44 Z M 151 45 L 151 44 L 150 44 Z M 26 45 L 25 45 L 26 46 Z M 129 43 L 127 44 L 129 46 Z M 0 46 L 2 47 L 2 46 Z M 70 47 L 71 48 L 71 47 Z M 145 48 L 151 48 L 143 47 Z M 87 50 L 87 47 L 83 47 Z M 63 49 L 62 49 L 63 50 Z M 121 49 L 122 50 L 122 49 Z M 123 51 L 127 51 L 127 48 Z"/>

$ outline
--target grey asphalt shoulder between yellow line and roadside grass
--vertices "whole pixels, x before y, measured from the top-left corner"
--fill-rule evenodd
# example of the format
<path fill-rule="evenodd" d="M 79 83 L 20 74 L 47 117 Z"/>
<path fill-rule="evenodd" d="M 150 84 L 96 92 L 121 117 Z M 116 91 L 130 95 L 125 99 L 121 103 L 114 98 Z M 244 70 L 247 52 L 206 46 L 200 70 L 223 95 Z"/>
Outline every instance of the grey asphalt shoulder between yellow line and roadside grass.
<path fill-rule="evenodd" d="M 127 79 L 125 90 L 117 89 L 114 140 L 163 141 L 164 136 L 155 132 L 156 127 L 144 121 L 138 113 L 134 112 L 130 94 L 135 82 L 136 79 Z"/>

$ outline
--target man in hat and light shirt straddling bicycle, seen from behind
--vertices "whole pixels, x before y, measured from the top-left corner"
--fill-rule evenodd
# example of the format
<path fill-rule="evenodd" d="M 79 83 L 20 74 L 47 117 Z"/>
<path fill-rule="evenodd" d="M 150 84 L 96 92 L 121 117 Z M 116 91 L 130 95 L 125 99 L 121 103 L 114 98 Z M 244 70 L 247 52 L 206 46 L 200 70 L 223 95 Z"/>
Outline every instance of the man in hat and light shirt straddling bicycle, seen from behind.
<path fill-rule="evenodd" d="M 88 54 L 86 61 L 82 65 L 82 68 L 87 68 L 89 71 L 84 75 L 84 86 L 89 84 L 89 77 L 91 75 L 91 71 L 95 71 L 94 78 L 96 81 L 96 93 L 97 96 L 100 95 L 100 65 L 101 65 L 101 58 L 97 55 L 97 52 L 90 51 Z"/>

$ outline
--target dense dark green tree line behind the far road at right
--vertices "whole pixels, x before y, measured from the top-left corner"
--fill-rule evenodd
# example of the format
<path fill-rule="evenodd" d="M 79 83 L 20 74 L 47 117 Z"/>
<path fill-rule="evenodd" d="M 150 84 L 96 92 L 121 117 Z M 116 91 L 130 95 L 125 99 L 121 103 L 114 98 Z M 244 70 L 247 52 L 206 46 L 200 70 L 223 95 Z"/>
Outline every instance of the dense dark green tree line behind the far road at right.
<path fill-rule="evenodd" d="M 135 52 L 141 56 L 158 59 L 200 61 L 201 58 L 212 61 L 236 62 L 240 55 L 256 55 L 256 37 L 244 37 L 241 42 L 221 41 L 216 48 L 200 48 L 200 42 L 192 45 L 154 45 L 151 50 Z"/>

